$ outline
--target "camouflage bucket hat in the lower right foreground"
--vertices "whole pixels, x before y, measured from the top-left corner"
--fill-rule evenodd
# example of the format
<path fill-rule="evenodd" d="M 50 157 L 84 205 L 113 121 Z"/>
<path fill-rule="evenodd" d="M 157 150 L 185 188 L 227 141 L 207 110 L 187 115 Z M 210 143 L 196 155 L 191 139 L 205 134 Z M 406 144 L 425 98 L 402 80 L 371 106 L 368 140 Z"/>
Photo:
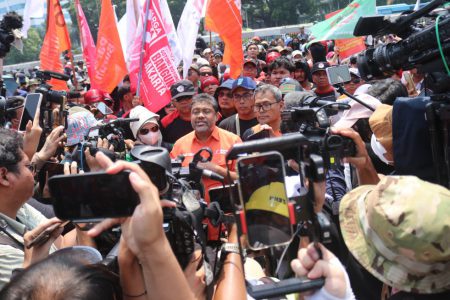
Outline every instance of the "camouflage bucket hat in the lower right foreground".
<path fill-rule="evenodd" d="M 450 191 L 414 176 L 386 176 L 342 198 L 345 244 L 372 275 L 420 294 L 450 290 Z"/>

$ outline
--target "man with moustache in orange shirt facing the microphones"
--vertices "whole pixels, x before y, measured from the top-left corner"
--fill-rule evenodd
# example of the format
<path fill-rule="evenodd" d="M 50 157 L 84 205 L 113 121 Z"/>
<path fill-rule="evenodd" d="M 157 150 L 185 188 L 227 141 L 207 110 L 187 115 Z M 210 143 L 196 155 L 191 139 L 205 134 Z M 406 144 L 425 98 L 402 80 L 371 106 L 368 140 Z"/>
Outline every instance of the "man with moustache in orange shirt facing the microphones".
<path fill-rule="evenodd" d="M 213 171 L 223 177 L 227 177 L 226 154 L 228 150 L 237 143 L 241 143 L 239 136 L 216 126 L 219 106 L 216 100 L 208 94 L 199 94 L 192 99 L 191 123 L 194 131 L 179 138 L 173 146 L 170 156 L 176 158 L 179 155 L 185 157 L 182 166 L 187 167 L 192 161 L 195 153 L 203 147 L 212 150 L 213 157 L 210 162 L 198 163 L 198 167 Z M 234 170 L 234 163 L 231 165 Z M 235 180 L 236 173 L 230 172 L 232 180 Z M 205 195 L 209 202 L 208 191 L 212 187 L 222 186 L 222 183 L 203 178 L 202 180 Z"/>

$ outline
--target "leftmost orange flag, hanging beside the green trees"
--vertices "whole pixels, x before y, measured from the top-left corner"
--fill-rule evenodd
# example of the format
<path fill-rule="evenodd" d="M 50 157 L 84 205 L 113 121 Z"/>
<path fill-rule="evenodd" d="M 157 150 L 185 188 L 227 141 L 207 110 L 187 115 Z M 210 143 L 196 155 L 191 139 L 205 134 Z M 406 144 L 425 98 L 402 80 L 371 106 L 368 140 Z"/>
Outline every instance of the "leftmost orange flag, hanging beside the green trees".
<path fill-rule="evenodd" d="M 60 55 L 61 52 L 70 50 L 69 33 L 59 0 L 49 0 L 47 5 L 47 32 L 39 55 L 41 70 L 64 73 Z M 63 80 L 52 78 L 48 83 L 55 90 L 68 89 L 67 83 Z"/>

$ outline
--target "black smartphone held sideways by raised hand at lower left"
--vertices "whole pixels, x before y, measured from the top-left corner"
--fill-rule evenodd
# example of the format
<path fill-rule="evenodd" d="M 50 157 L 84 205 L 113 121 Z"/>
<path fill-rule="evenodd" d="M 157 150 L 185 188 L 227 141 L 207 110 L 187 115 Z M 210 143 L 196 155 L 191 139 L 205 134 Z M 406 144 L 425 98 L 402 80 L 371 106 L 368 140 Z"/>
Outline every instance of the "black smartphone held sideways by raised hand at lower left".
<path fill-rule="evenodd" d="M 55 215 L 72 222 L 131 216 L 140 201 L 129 175 L 123 171 L 53 176 L 48 185 Z"/>

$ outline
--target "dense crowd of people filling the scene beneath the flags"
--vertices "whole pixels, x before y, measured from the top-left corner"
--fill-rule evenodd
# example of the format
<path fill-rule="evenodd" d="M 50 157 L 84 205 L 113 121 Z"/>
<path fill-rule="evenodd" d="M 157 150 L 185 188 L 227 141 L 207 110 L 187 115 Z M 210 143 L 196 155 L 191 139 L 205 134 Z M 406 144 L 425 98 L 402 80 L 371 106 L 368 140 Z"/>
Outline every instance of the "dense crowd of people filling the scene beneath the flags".
<path fill-rule="evenodd" d="M 405 174 L 396 169 L 412 154 L 406 149 L 408 140 L 393 133 L 394 103 L 398 97 L 423 94 L 424 74 L 413 69 L 366 82 L 355 56 L 341 60 L 333 41 L 307 45 L 308 40 L 302 28 L 292 37 L 246 41 L 242 75 L 236 79 L 222 62 L 222 44 L 198 48 L 187 77 L 171 86 L 171 101 L 153 112 L 143 106 L 129 78 L 111 94 L 90 89 L 83 62 L 72 66 L 68 61 L 69 85 L 79 95 L 66 103 L 66 126 L 55 123 L 44 136 L 37 113 L 26 131 L 18 132 L 19 108 L 8 113 L 9 128 L 0 129 L 0 298 L 250 299 L 246 284 L 278 279 L 254 252 L 239 251 L 235 223 L 206 226 L 206 244 L 221 249 L 222 265 L 209 293 L 211 271 L 199 263 L 201 251 L 194 252 L 184 270 L 173 254 L 163 228 L 163 208 L 175 203 L 160 200 L 148 175 L 126 161 L 127 155 L 123 160 L 105 155 L 115 152 L 107 139 L 98 139 L 97 147 L 104 151 L 95 157 L 85 149 L 87 167 L 78 165 L 72 152 L 92 127 L 136 118 L 122 128 L 124 152 L 142 145 L 163 147 L 188 167 L 194 155 L 208 147 L 211 161 L 197 166 L 235 181 L 238 174 L 235 163 L 227 164 L 228 151 L 245 141 L 282 137 L 287 133 L 283 111 L 315 99 L 349 106 L 330 118 L 330 131 L 352 139 L 356 154 L 327 170 L 325 181 L 309 183 L 315 191 L 314 211 L 331 222 L 332 242 L 317 246 L 302 237 L 294 251 L 290 267 L 295 276 L 325 279 L 322 288 L 304 298 L 449 299 L 450 191 L 420 176 L 422 170 Z M 373 110 L 330 84 L 326 70 L 335 65 L 349 67 L 351 80 L 344 89 Z M 27 93 L 43 84 L 36 70 L 14 74 L 19 87 L 7 106 L 19 106 Z M 404 156 L 394 151 L 400 140 Z M 66 175 L 129 170 L 141 202 L 128 218 L 107 219 L 88 231 L 81 224 L 68 224 L 52 231 L 44 244 L 29 248 L 36 236 L 62 222 L 48 201 L 44 203 L 50 197 L 45 180 L 44 187 L 37 184 L 36 174 L 48 161 L 64 164 Z M 292 161 L 286 167 L 291 174 L 301 171 Z M 432 162 L 428 167 L 433 168 Z M 202 198 L 210 203 L 208 191 L 222 183 L 203 177 L 202 184 Z M 118 274 L 102 266 L 102 256 L 92 250 L 104 255 L 105 232 L 117 225 Z M 66 248 L 70 251 L 64 252 Z"/>

